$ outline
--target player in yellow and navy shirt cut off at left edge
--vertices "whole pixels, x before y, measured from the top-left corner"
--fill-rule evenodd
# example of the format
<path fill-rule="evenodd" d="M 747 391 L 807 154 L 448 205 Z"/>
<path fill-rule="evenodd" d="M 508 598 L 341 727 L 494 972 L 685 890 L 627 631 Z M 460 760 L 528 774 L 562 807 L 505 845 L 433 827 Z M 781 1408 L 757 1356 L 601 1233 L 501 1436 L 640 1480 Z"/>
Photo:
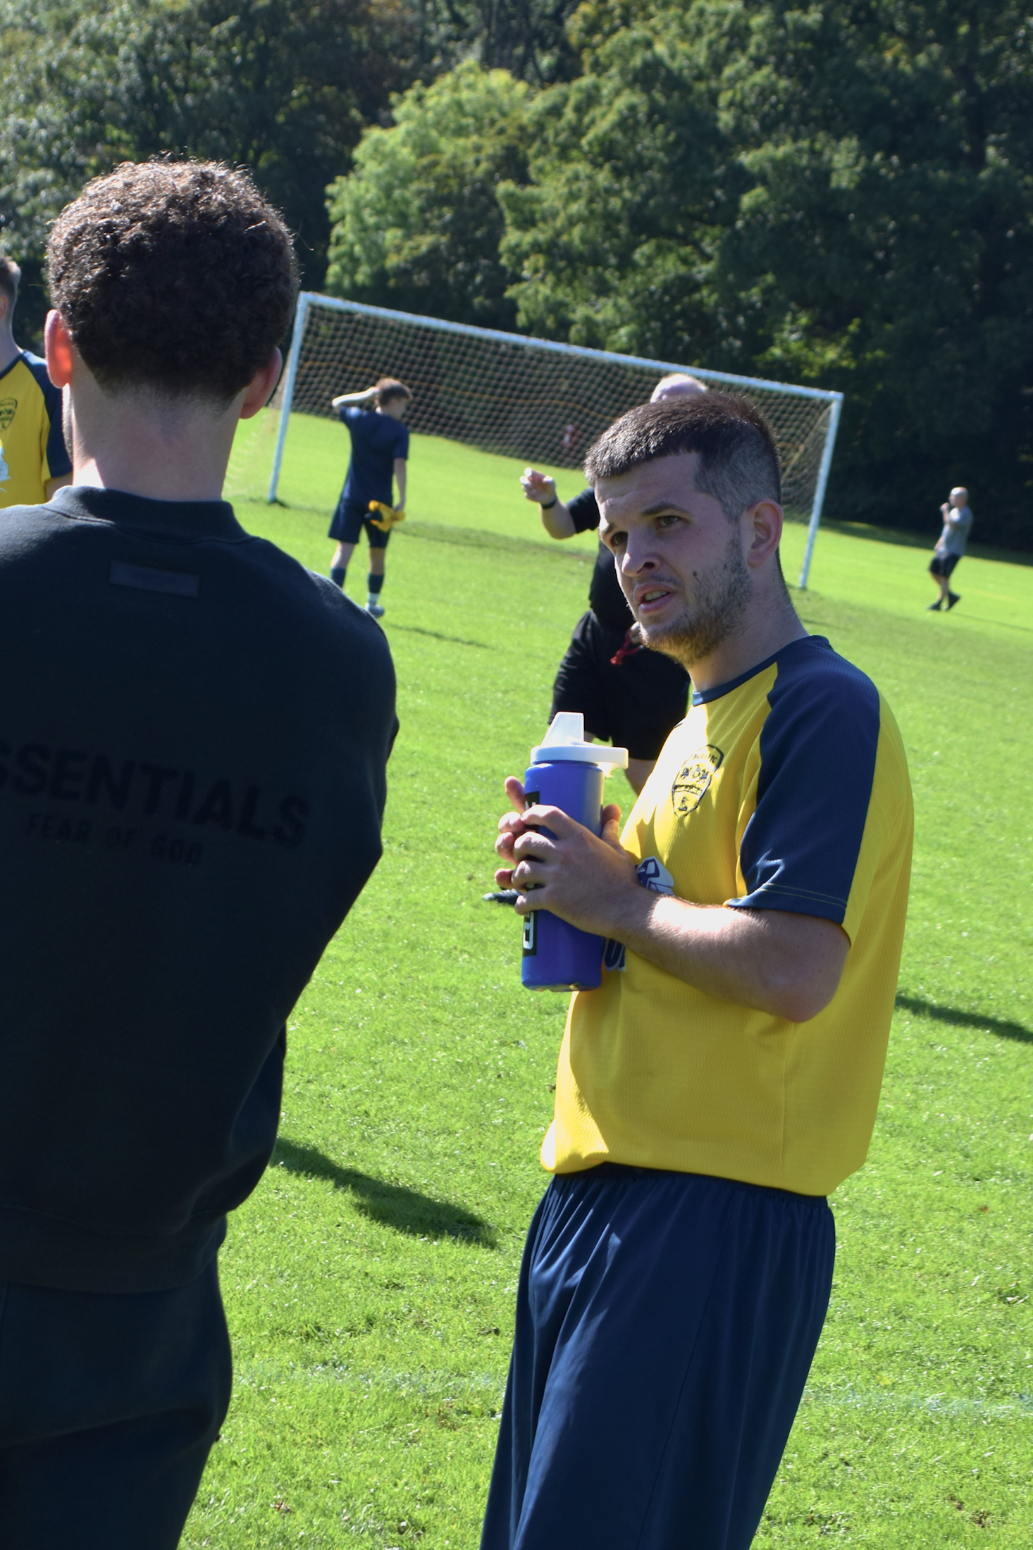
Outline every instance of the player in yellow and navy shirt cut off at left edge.
<path fill-rule="evenodd" d="M 22 271 L 0 253 L 0 507 L 36 505 L 71 484 L 60 392 L 47 361 L 14 343 Z"/>

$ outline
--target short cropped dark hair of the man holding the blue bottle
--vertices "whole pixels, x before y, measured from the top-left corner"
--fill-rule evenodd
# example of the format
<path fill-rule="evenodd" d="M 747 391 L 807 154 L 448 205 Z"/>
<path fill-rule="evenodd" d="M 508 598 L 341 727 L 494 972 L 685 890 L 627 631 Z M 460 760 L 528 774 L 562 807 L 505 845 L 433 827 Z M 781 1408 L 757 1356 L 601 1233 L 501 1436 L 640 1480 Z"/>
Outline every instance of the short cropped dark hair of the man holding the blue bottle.
<path fill-rule="evenodd" d="M 760 409 L 738 394 L 701 392 L 630 409 L 585 459 L 589 484 L 678 453 L 698 453 L 696 490 L 721 502 L 729 522 L 757 501 L 782 501 L 779 450 Z"/>

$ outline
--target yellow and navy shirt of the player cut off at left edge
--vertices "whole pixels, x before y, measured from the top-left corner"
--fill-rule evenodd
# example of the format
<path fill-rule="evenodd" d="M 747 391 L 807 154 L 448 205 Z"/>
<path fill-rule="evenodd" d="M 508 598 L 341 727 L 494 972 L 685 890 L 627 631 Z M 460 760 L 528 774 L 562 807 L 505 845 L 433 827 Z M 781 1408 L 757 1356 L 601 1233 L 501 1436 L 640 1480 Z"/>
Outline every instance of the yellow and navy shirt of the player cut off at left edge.
<path fill-rule="evenodd" d="M 47 480 L 70 473 L 60 388 L 47 375 L 47 361 L 22 350 L 0 372 L 0 507 L 40 505 Z"/>

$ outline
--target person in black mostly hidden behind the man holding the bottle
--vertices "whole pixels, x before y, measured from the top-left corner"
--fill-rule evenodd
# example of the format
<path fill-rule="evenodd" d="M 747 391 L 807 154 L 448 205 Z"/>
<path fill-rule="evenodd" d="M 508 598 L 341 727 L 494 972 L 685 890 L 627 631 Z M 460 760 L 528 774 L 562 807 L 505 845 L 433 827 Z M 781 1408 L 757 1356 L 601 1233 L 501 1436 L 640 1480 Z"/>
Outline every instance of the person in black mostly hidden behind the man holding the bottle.
<path fill-rule="evenodd" d="M 658 381 L 650 403 L 706 391 L 695 377 L 675 372 Z M 555 482 L 537 468 L 524 468 L 520 485 L 529 501 L 538 502 L 541 525 L 551 538 L 572 538 L 599 527 L 593 490 L 582 490 L 563 502 Z M 689 674 L 669 657 L 642 649 L 613 555 L 603 544 L 596 556 L 588 601 L 588 612 L 574 626 L 555 676 L 549 721 L 558 710 L 580 710 L 589 738 L 627 749 L 628 784 L 637 797 L 667 733 L 686 715 Z"/>

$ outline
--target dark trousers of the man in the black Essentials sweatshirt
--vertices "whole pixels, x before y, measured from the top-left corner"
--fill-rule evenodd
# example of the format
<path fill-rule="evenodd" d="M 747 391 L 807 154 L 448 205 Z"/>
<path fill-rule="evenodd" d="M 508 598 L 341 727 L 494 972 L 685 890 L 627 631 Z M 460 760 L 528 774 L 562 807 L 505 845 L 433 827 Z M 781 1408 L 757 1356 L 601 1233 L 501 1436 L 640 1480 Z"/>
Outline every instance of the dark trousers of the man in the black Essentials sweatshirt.
<path fill-rule="evenodd" d="M 231 1381 L 214 1263 L 174 1291 L 0 1282 L 0 1545 L 175 1550 Z"/>

